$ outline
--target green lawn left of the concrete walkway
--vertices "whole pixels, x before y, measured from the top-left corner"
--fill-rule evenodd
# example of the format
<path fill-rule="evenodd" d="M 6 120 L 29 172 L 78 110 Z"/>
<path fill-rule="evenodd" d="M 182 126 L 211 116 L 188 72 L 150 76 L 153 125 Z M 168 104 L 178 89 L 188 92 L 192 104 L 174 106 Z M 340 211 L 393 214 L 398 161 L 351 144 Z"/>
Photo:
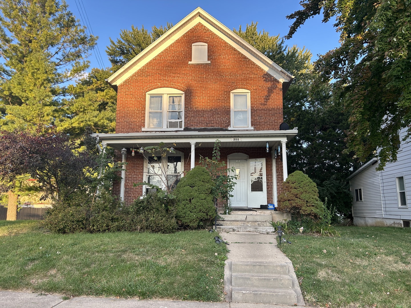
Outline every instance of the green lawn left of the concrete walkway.
<path fill-rule="evenodd" d="M 216 235 L 53 234 L 33 221 L 0 221 L 0 288 L 223 301 L 227 249 L 215 244 Z"/>

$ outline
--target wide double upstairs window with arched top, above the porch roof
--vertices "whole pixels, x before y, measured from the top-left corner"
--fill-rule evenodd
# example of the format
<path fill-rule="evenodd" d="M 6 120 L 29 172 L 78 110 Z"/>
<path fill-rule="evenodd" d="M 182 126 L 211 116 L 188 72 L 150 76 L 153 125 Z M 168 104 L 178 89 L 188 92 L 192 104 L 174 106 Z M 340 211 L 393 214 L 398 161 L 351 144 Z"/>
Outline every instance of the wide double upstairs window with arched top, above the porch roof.
<path fill-rule="evenodd" d="M 184 128 L 184 92 L 158 88 L 146 93 L 143 131 L 181 130 Z"/>

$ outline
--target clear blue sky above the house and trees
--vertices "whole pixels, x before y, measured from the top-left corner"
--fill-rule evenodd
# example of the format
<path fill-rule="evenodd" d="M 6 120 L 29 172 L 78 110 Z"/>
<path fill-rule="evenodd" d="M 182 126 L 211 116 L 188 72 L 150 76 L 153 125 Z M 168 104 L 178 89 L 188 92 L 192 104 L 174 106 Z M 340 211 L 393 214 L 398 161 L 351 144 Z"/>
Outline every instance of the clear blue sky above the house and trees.
<path fill-rule="evenodd" d="M 99 37 L 98 48 L 102 55 L 104 65 L 110 62 L 105 53 L 106 46 L 119 37 L 122 29 L 131 29 L 131 25 L 144 25 L 151 29 L 153 25 L 165 25 L 167 22 L 178 23 L 196 7 L 201 7 L 228 28 L 238 29 L 239 25 L 245 27 L 252 21 L 258 22 L 258 30 L 266 30 L 270 35 L 284 36 L 288 33 L 292 21 L 286 19 L 286 15 L 300 9 L 299 0 L 278 1 L 140 1 L 140 0 L 66 0 L 69 10 L 80 19 L 81 14 L 77 9 L 81 3 L 87 12 L 92 32 Z M 80 7 L 79 7 L 80 8 Z M 292 39 L 286 40 L 286 44 L 306 47 L 313 53 L 313 60 L 317 54 L 324 54 L 330 49 L 339 46 L 339 34 L 332 27 L 334 20 L 324 24 L 321 17 L 310 19 L 298 29 Z M 245 28 L 244 28 L 245 29 Z M 90 60 L 90 69 L 99 67 L 94 54 Z"/>

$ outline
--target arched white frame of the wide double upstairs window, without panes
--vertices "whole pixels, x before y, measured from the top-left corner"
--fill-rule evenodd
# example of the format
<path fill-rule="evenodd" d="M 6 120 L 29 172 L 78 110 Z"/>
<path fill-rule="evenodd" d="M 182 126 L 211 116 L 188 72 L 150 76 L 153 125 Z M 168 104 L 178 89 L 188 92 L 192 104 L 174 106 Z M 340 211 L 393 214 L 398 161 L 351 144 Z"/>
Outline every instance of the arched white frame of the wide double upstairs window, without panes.
<path fill-rule="evenodd" d="M 182 127 L 181 128 L 168 128 L 167 112 L 169 108 L 169 96 L 181 95 L 181 115 L 182 115 Z M 162 119 L 163 127 L 148 127 L 148 113 L 150 96 L 162 96 Z M 145 127 L 142 131 L 182 131 L 184 129 L 184 92 L 174 88 L 157 88 L 146 92 L 145 94 Z"/>

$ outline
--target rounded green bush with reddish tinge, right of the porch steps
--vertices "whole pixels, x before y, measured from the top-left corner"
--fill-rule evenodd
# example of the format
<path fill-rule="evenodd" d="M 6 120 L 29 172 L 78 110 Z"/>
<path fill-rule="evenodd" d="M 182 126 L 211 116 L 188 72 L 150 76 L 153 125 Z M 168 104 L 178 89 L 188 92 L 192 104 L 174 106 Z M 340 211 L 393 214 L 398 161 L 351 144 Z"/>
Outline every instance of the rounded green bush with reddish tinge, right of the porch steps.
<path fill-rule="evenodd" d="M 318 198 L 316 184 L 301 171 L 291 173 L 284 182 L 284 191 L 278 196 L 278 210 L 291 213 L 298 221 L 301 216 L 320 218 L 323 202 Z"/>

